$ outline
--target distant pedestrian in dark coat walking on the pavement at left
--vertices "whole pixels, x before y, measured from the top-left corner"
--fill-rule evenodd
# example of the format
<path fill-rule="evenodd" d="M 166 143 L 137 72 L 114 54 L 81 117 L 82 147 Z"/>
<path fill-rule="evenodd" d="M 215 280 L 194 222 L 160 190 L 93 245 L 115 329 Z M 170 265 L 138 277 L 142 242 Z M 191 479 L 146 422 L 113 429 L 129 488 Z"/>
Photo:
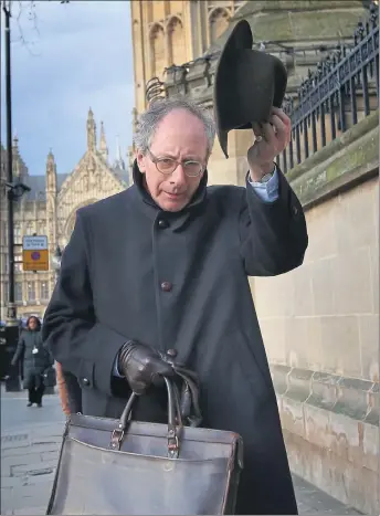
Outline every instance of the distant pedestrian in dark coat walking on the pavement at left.
<path fill-rule="evenodd" d="M 27 328 L 21 331 L 11 365 L 17 366 L 20 360 L 23 360 L 23 387 L 29 392 L 28 407 L 32 407 L 33 403 L 42 407 L 45 390 L 43 375 L 54 360 L 42 344 L 41 323 L 35 316 L 28 318 Z"/>

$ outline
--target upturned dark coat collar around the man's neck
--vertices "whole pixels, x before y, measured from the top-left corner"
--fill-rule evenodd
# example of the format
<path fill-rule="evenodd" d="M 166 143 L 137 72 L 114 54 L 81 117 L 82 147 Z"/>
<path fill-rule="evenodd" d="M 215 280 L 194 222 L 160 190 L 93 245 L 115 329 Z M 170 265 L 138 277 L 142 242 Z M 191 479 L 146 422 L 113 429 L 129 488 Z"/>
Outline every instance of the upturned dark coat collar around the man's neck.
<path fill-rule="evenodd" d="M 156 220 L 159 215 L 165 213 L 167 219 L 175 224 L 177 229 L 182 227 L 186 221 L 189 220 L 189 217 L 200 212 L 207 201 L 207 183 L 208 183 L 208 171 L 205 170 L 203 177 L 199 183 L 199 187 L 193 194 L 189 204 L 187 204 L 181 211 L 171 212 L 171 211 L 163 211 L 157 202 L 151 198 L 150 193 L 146 190 L 144 186 L 144 177 L 140 172 L 137 160 L 135 159 L 133 165 L 133 178 L 134 178 L 134 186 L 136 189 L 136 198 L 140 203 L 144 212 L 152 220 Z"/>

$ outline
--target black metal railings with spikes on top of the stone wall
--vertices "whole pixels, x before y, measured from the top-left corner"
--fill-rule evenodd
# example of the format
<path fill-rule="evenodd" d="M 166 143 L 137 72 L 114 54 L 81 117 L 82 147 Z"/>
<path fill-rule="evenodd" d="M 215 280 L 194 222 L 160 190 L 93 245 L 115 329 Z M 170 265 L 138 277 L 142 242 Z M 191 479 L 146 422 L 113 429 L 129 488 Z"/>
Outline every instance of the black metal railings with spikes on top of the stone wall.
<path fill-rule="evenodd" d="M 378 106 L 379 27 L 372 4 L 368 21 L 358 23 L 353 46 L 338 45 L 309 70 L 295 98 L 285 97 L 292 139 L 281 157 L 282 170 L 286 173 Z"/>

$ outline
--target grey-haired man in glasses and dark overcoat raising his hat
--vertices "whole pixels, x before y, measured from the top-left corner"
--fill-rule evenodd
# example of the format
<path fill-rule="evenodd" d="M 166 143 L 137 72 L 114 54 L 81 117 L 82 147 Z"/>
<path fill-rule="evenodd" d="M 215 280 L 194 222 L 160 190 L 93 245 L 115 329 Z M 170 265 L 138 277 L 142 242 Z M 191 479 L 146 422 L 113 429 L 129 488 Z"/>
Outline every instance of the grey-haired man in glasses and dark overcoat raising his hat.
<path fill-rule="evenodd" d="M 165 422 L 166 391 L 149 387 L 170 373 L 160 354 L 177 357 L 199 376 L 202 424 L 243 438 L 238 514 L 296 514 L 247 276 L 299 266 L 307 232 L 274 164 L 288 117 L 273 108 L 255 133 L 246 187 L 207 187 L 212 119 L 184 99 L 154 103 L 135 185 L 77 211 L 43 333 L 78 378 L 85 414 L 117 418 L 134 390 L 134 419 Z"/>

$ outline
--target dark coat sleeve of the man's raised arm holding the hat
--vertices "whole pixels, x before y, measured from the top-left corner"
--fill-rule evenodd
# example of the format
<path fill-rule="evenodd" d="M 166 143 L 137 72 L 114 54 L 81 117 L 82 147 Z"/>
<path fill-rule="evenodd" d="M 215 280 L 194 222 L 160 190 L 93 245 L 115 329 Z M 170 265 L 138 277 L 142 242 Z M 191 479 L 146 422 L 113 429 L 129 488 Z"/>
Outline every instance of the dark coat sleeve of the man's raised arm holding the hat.
<path fill-rule="evenodd" d="M 308 245 L 304 210 L 277 167 L 278 198 L 264 202 L 246 180 L 239 213 L 240 250 L 249 276 L 275 276 L 302 265 Z"/>

